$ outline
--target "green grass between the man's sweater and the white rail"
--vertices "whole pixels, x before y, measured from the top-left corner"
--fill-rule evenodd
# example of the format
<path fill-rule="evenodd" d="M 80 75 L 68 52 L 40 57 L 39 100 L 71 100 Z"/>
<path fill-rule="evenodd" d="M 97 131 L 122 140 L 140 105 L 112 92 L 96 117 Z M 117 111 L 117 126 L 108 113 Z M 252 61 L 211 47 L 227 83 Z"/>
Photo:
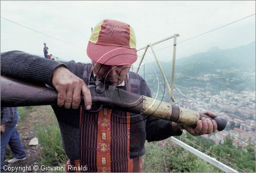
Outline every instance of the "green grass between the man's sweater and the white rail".
<path fill-rule="evenodd" d="M 222 172 L 168 139 L 161 146 L 146 142 L 145 147 L 143 172 Z"/>

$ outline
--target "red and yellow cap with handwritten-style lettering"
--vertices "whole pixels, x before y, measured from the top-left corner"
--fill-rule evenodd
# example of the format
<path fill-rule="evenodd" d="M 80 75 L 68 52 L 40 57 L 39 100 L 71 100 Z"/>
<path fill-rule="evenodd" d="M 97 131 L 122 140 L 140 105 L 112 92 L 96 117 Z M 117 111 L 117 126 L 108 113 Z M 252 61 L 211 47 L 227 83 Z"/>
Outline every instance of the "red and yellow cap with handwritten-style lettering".
<path fill-rule="evenodd" d="M 106 65 L 134 63 L 137 51 L 133 28 L 121 21 L 102 20 L 92 31 L 87 54 L 93 61 Z"/>

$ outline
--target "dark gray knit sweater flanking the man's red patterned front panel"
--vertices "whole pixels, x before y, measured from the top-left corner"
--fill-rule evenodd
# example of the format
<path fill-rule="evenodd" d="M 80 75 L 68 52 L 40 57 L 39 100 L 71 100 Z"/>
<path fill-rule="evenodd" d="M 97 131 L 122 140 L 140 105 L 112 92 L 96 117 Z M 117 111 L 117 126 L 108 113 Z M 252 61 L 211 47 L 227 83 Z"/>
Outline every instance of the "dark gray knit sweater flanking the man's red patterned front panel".
<path fill-rule="evenodd" d="M 36 82 L 46 83 L 52 86 L 52 72 L 59 66 L 68 68 L 79 78 L 88 84 L 90 63 L 76 63 L 75 61 L 57 62 L 39 56 L 31 55 L 22 51 L 10 51 L 1 53 L 1 75 L 21 78 Z M 151 91 L 144 79 L 133 72 L 129 72 L 127 87 L 134 93 L 151 97 Z M 64 107 L 52 106 L 59 123 L 62 136 L 63 148 L 72 160 L 79 159 L 80 155 L 80 131 L 79 109 L 65 109 Z M 134 116 L 134 115 L 131 115 Z M 142 156 L 145 153 L 145 140 L 158 141 L 170 136 L 179 136 L 182 131 L 173 132 L 172 123 L 165 120 L 144 116 L 135 116 L 131 119 L 131 157 Z M 135 123 L 136 122 L 136 123 Z"/>

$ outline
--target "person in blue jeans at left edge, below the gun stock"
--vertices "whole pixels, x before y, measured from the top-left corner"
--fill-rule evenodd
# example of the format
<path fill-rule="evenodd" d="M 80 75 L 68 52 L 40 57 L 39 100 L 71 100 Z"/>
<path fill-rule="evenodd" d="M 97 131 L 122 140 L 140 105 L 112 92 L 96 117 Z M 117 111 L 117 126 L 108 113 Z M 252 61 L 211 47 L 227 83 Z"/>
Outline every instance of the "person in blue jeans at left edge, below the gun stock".
<path fill-rule="evenodd" d="M 6 170 L 4 169 L 4 155 L 8 144 L 14 156 L 13 159 L 8 160 L 8 163 L 27 159 L 27 154 L 16 129 L 17 122 L 17 107 L 1 107 L 1 172 Z"/>

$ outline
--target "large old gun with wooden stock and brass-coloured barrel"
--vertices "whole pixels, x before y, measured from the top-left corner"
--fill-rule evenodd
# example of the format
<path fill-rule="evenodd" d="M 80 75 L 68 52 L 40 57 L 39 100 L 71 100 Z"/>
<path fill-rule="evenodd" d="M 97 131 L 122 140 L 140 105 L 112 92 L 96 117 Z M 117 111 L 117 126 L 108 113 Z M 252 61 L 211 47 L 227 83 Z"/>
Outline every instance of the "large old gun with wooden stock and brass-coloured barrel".
<path fill-rule="evenodd" d="M 96 81 L 96 85 L 89 85 L 88 87 L 93 104 L 102 105 L 102 107 L 143 114 L 190 126 L 195 126 L 198 120 L 206 117 L 217 122 L 218 131 L 223 131 L 227 123 L 225 119 L 220 117 L 211 118 L 207 115 L 200 115 L 198 112 L 170 105 L 167 102 L 154 98 L 120 90 L 114 86 L 105 89 L 103 83 L 99 81 Z M 55 89 L 45 85 L 1 76 L 1 106 L 17 107 L 56 104 L 57 91 Z"/>

